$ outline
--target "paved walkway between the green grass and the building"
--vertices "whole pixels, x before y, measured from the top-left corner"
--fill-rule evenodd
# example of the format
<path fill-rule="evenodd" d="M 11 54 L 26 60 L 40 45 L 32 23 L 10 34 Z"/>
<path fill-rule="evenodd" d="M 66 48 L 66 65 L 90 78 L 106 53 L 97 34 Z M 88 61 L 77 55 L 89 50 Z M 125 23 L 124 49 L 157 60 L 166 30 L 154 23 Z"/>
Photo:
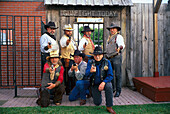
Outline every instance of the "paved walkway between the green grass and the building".
<path fill-rule="evenodd" d="M 102 92 L 104 97 L 104 91 Z M 25 96 L 14 98 L 14 89 L 0 89 L 0 101 L 6 100 L 0 107 L 33 107 L 37 106 L 36 100 L 36 90 L 18 89 L 18 96 Z M 34 97 L 26 97 L 34 96 Z M 153 102 L 152 100 L 141 95 L 137 91 L 132 91 L 128 88 L 123 88 L 120 97 L 113 98 L 114 105 L 133 105 L 133 104 L 157 104 L 157 103 L 170 103 L 170 102 Z M 102 104 L 105 105 L 105 99 L 103 98 Z M 52 106 L 55 106 L 52 104 Z M 61 106 L 80 106 L 79 100 L 70 102 L 68 101 L 68 96 L 63 96 L 63 101 Z M 87 99 L 87 103 L 84 106 L 95 106 L 93 104 L 93 99 Z"/>

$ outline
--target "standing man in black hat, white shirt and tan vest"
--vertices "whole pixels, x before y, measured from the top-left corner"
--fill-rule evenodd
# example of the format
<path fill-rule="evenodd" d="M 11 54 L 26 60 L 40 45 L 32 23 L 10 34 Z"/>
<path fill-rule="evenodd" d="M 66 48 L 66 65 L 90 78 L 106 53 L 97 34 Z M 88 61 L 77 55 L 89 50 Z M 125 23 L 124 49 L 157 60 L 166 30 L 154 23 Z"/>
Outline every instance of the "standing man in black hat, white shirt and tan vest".
<path fill-rule="evenodd" d="M 91 32 L 93 32 L 94 30 L 90 29 L 89 26 L 84 26 L 83 27 L 83 31 L 81 31 L 81 33 L 83 33 L 83 38 L 81 39 L 80 43 L 79 43 L 79 47 L 78 49 L 80 51 L 82 51 L 88 58 L 91 58 L 92 54 L 90 54 L 89 52 L 93 53 L 94 51 L 94 43 L 91 40 Z M 88 62 L 88 61 L 86 61 Z"/>

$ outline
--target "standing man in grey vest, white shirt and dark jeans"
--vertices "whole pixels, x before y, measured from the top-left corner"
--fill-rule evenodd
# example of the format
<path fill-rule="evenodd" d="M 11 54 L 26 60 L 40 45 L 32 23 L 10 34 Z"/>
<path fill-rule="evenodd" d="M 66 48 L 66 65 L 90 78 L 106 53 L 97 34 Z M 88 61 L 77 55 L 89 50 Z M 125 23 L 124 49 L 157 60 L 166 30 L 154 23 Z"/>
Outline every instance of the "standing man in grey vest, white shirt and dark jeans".
<path fill-rule="evenodd" d="M 111 23 L 107 29 L 110 31 L 110 35 L 106 41 L 106 57 L 110 60 L 112 68 L 115 71 L 116 78 L 116 94 L 114 97 L 119 97 L 121 93 L 121 82 L 122 82 L 122 73 L 121 73 L 121 64 L 122 64 L 122 54 L 121 51 L 125 48 L 124 39 L 119 34 L 121 28 L 114 23 Z M 114 89 L 114 80 L 112 80 L 113 92 Z"/>

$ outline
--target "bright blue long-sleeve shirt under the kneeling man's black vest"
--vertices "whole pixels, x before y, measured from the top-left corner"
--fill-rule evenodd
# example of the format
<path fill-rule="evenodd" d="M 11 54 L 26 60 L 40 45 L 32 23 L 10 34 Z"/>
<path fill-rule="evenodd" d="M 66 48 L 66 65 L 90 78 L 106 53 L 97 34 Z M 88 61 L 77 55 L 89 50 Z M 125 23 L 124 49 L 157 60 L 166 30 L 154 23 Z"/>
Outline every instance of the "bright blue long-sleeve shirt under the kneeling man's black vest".
<path fill-rule="evenodd" d="M 113 79 L 112 66 L 111 66 L 110 61 L 109 60 L 107 60 L 107 61 L 108 61 L 107 75 L 106 75 L 106 78 L 103 80 L 103 82 L 105 82 L 105 83 L 111 82 L 111 80 Z M 96 73 L 95 73 L 95 77 L 94 77 L 94 84 L 96 84 L 96 85 L 98 85 L 102 82 L 102 80 L 101 80 L 101 67 L 100 66 L 101 66 L 101 64 L 96 64 Z M 93 75 L 93 73 L 90 72 L 90 69 L 91 69 L 91 61 L 88 61 L 85 76 L 91 77 Z"/>

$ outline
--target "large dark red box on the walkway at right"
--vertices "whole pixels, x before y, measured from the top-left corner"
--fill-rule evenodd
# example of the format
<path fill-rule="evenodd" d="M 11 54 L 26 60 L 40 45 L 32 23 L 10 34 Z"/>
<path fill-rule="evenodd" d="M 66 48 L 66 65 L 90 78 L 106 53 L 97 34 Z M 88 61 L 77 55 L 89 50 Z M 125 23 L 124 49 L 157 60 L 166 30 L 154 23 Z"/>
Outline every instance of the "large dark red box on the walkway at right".
<path fill-rule="evenodd" d="M 155 102 L 170 101 L 170 76 L 134 77 L 138 92 Z"/>

